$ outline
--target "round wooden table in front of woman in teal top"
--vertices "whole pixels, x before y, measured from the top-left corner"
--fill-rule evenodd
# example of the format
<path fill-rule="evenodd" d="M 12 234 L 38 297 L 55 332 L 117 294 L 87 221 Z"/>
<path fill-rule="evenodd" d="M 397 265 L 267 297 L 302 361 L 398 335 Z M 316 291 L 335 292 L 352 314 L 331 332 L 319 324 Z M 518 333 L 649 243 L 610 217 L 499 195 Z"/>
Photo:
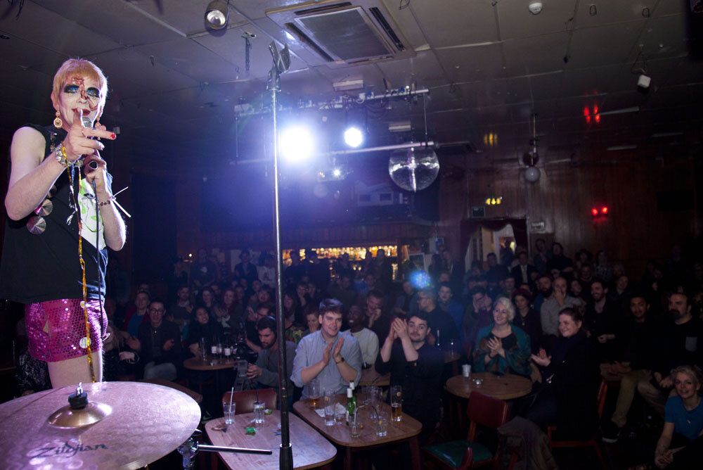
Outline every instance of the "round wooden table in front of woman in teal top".
<path fill-rule="evenodd" d="M 483 383 L 477 386 L 473 379 L 483 379 Z M 477 391 L 500 400 L 512 400 L 530 393 L 532 382 L 527 377 L 514 374 L 497 376 L 491 372 L 472 372 L 470 379 L 462 375 L 453 376 L 446 381 L 446 390 L 460 398 L 469 398 L 472 391 Z"/>

